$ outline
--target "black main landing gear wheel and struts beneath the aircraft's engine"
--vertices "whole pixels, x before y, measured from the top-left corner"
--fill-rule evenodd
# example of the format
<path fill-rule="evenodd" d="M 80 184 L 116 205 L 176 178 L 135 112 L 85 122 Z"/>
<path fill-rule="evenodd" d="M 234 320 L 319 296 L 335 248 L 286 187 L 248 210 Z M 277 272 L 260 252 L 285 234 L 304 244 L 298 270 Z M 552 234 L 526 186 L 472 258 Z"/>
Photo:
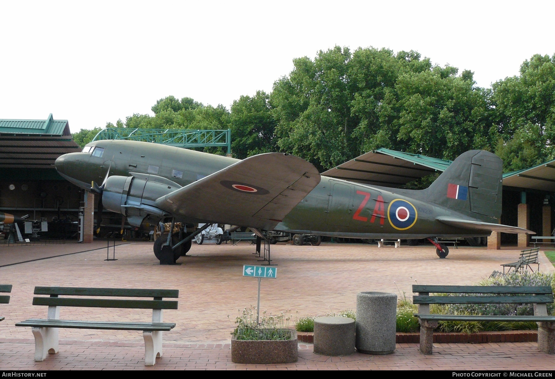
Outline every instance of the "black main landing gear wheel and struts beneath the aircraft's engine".
<path fill-rule="evenodd" d="M 172 220 L 169 230 L 173 231 L 173 233 L 171 235 L 170 233 L 162 234 L 154 241 L 154 255 L 160 261 L 160 265 L 175 265 L 179 257 L 185 256 L 190 250 L 193 238 L 211 225 L 205 224 L 193 233 L 186 233 L 186 228 L 176 232 L 175 222 Z"/>

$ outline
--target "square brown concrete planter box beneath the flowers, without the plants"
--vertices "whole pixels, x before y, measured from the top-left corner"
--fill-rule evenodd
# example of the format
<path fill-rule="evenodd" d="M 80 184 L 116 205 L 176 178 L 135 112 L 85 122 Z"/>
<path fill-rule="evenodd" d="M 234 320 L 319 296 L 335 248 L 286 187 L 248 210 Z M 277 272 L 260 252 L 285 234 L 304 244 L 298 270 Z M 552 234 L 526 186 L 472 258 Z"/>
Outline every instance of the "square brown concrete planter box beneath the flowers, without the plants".
<path fill-rule="evenodd" d="M 231 362 L 234 363 L 291 363 L 298 359 L 297 332 L 285 341 L 231 340 Z"/>

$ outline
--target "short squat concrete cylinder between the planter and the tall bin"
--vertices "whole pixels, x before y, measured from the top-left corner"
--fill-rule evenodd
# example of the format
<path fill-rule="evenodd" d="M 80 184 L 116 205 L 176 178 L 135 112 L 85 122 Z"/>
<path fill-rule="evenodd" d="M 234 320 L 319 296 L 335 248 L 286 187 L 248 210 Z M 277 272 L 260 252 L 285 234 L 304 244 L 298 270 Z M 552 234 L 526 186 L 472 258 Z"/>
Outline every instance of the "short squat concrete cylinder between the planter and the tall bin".
<path fill-rule="evenodd" d="M 349 317 L 314 319 L 314 352 L 332 357 L 355 353 L 355 320 Z"/>

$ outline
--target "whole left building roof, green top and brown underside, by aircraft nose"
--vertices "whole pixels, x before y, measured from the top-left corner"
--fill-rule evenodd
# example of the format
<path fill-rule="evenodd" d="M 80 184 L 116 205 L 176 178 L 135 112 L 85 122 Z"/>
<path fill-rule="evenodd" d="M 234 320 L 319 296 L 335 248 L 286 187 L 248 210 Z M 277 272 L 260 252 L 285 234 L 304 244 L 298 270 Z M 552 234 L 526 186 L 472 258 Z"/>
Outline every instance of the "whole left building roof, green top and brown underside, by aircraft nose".
<path fill-rule="evenodd" d="M 67 120 L 0 119 L 0 168 L 49 168 L 65 153 L 81 151 Z"/>

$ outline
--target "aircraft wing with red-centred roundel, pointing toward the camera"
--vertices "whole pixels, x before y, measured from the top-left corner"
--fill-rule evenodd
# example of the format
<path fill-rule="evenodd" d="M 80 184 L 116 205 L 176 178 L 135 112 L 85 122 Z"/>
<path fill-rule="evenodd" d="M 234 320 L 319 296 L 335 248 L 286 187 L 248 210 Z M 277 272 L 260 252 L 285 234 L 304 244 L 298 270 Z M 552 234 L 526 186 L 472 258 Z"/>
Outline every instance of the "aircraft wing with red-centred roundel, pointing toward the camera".
<path fill-rule="evenodd" d="M 284 153 L 259 154 L 232 164 L 156 203 L 176 215 L 273 229 L 317 184 L 311 163 Z"/>

